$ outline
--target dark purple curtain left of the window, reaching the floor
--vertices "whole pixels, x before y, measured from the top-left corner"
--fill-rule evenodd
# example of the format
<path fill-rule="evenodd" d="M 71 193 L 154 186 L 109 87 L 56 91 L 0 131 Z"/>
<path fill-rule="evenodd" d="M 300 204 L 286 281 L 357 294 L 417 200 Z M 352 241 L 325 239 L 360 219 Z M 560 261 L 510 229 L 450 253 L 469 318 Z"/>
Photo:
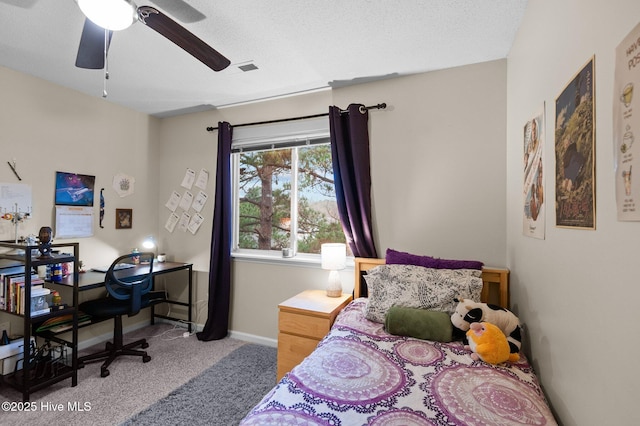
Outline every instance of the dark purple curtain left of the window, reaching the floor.
<path fill-rule="evenodd" d="M 209 263 L 208 317 L 198 340 L 218 340 L 229 334 L 231 300 L 231 125 L 218 123 L 216 196 Z"/>

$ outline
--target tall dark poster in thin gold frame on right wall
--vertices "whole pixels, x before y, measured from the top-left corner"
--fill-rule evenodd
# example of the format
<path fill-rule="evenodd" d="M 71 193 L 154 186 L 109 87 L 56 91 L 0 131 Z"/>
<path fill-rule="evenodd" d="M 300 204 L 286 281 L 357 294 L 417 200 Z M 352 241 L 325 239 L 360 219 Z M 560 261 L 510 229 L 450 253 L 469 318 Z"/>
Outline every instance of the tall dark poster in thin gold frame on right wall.
<path fill-rule="evenodd" d="M 596 229 L 595 57 L 556 99 L 556 226 Z"/>

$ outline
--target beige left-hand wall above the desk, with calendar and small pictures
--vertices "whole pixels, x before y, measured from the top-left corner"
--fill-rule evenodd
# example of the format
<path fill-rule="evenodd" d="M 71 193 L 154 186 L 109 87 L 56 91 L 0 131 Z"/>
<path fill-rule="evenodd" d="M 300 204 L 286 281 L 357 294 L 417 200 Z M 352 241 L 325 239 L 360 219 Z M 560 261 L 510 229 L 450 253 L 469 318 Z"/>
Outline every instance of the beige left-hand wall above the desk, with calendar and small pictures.
<path fill-rule="evenodd" d="M 0 182 L 32 186 L 32 218 L 20 224 L 19 236 L 37 235 L 45 225 L 55 228 L 56 171 L 96 176 L 94 236 L 78 239 L 87 267 L 109 264 L 156 232 L 159 120 L 0 67 L 0 129 Z M 6 165 L 14 160 L 21 182 Z M 112 189 L 119 172 L 135 178 L 135 194 L 120 198 Z M 98 227 L 100 188 L 105 188 L 104 229 Z M 115 229 L 116 208 L 133 209 L 132 229 Z M 0 239 L 13 238 L 13 225 L 0 220 Z M 54 237 L 54 242 L 65 240 Z M 89 338 L 107 328 L 82 333 Z"/>

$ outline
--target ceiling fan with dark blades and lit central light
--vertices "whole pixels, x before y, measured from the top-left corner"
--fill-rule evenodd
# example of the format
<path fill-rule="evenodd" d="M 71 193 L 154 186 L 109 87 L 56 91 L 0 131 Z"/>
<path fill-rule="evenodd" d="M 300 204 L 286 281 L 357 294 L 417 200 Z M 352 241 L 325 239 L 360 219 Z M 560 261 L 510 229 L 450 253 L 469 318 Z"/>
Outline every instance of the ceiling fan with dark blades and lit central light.
<path fill-rule="evenodd" d="M 76 3 L 87 17 L 76 57 L 78 68 L 105 68 L 113 31 L 126 29 L 135 22 L 141 22 L 156 31 L 214 71 L 221 71 L 231 63 L 229 59 L 154 7 L 138 7 L 132 0 L 76 0 Z M 201 16 L 200 19 L 203 19 L 204 15 Z M 111 18 L 113 20 L 110 20 Z"/>

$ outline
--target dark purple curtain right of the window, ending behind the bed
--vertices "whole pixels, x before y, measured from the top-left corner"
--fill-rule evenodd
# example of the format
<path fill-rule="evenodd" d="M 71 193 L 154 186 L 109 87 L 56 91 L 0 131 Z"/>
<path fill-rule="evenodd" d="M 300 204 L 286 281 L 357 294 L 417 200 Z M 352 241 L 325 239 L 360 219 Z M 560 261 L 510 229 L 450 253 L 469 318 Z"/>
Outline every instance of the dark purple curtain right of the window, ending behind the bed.
<path fill-rule="evenodd" d="M 378 257 L 371 224 L 369 111 L 351 104 L 329 107 L 336 199 L 347 244 L 356 257 Z"/>

